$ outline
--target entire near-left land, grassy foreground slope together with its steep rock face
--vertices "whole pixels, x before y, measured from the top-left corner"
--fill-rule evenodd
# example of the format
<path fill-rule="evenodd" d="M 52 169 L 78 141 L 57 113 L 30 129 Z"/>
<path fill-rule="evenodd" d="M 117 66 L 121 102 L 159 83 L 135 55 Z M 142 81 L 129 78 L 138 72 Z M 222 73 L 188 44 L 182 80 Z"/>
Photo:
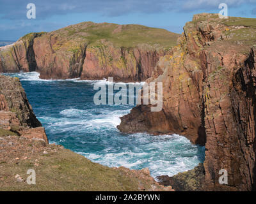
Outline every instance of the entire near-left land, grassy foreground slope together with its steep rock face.
<path fill-rule="evenodd" d="M 36 172 L 28 185 L 27 171 Z M 140 171 L 108 168 L 49 144 L 19 78 L 0 76 L 0 191 L 173 191 Z"/>

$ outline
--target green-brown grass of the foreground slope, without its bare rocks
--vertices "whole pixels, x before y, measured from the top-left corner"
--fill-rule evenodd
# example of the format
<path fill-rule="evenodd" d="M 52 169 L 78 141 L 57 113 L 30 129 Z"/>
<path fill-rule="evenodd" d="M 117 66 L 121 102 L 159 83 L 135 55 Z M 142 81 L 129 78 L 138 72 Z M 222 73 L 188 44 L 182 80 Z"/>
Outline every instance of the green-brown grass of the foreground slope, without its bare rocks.
<path fill-rule="evenodd" d="M 33 165 L 35 159 L 39 166 Z M 29 168 L 36 171 L 36 185 L 16 182 L 15 175 L 26 179 Z M 37 155 L 18 164 L 3 162 L 1 175 L 6 179 L 0 182 L 0 191 L 138 191 L 138 182 L 143 184 L 143 180 L 122 170 L 92 163 L 70 150 L 59 150 L 49 156 Z M 150 188 L 148 184 L 143 185 Z"/>

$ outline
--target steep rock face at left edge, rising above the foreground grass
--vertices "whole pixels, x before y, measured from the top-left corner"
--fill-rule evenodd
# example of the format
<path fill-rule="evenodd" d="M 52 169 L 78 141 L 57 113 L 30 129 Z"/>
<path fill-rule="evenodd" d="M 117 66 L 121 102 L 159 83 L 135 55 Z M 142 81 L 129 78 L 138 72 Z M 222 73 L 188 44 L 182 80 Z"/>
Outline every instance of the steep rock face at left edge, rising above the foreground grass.
<path fill-rule="evenodd" d="M 0 133 L 48 142 L 41 126 L 29 105 L 19 78 L 0 76 Z"/>

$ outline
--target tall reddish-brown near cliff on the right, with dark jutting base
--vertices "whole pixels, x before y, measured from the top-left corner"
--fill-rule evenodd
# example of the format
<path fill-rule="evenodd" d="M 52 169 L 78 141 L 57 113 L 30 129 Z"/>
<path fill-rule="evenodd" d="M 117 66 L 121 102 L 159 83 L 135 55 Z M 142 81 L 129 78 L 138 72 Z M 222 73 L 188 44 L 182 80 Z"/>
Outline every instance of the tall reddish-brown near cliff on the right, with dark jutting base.
<path fill-rule="evenodd" d="M 147 82 L 163 82 L 163 110 L 139 105 L 122 117 L 126 133 L 178 133 L 205 145 L 204 190 L 255 190 L 256 20 L 203 13 Z M 219 171 L 228 172 L 220 185 Z"/>

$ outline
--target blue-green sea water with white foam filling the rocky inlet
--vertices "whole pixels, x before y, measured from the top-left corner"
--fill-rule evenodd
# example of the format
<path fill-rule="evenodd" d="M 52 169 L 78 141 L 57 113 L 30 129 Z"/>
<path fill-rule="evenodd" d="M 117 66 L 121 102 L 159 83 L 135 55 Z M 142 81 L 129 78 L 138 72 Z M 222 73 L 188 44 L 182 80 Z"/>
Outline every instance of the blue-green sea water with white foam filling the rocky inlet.
<path fill-rule="evenodd" d="M 93 85 L 105 80 L 42 80 L 39 73 L 8 73 L 19 77 L 36 117 L 51 143 L 63 145 L 95 163 L 149 168 L 153 177 L 191 170 L 204 161 L 204 147 L 180 135 L 127 135 L 116 126 L 131 105 L 95 105 Z"/>

